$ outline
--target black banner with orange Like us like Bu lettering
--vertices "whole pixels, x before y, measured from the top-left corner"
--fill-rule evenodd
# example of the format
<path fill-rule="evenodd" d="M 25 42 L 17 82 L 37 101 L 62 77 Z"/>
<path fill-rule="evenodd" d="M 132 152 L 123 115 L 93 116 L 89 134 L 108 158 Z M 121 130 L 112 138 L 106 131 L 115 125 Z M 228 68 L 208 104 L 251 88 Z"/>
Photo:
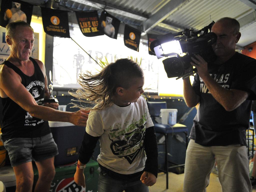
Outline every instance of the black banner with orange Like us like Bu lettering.
<path fill-rule="evenodd" d="M 97 10 L 94 11 L 77 11 L 77 22 L 82 34 L 86 37 L 104 35 L 99 30 L 99 16 Z"/>

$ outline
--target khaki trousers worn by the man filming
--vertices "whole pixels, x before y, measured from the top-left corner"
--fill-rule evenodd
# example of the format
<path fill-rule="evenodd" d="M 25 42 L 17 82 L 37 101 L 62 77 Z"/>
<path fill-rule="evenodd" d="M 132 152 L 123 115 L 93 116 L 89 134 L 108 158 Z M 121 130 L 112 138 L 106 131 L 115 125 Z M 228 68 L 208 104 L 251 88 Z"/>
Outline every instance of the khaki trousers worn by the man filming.
<path fill-rule="evenodd" d="M 222 192 L 250 192 L 247 147 L 238 145 L 205 147 L 190 140 L 185 160 L 185 192 L 206 192 L 215 160 Z"/>

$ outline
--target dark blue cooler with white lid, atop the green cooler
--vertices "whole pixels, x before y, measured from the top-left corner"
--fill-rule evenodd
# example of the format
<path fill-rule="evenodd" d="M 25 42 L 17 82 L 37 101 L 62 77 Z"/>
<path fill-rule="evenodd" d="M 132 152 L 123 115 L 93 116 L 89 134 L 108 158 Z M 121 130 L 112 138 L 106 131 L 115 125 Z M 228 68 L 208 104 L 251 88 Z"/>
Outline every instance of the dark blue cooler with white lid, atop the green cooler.
<path fill-rule="evenodd" d="M 65 165 L 78 160 L 85 127 L 68 122 L 49 121 L 52 137 L 58 146 L 59 154 L 54 158 L 54 165 Z"/>

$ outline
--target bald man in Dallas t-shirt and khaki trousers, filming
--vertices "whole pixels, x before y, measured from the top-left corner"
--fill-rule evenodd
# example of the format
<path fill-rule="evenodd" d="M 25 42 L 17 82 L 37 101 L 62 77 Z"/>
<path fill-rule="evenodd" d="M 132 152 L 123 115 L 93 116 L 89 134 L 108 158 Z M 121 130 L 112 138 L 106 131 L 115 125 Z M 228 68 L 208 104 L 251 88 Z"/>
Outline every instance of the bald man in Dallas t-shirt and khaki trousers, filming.
<path fill-rule="evenodd" d="M 252 190 L 246 130 L 256 100 L 256 60 L 235 51 L 239 29 L 236 19 L 219 19 L 211 28 L 217 35 L 213 69 L 208 72 L 208 63 L 195 55 L 190 62 L 197 69 L 194 82 L 184 79 L 187 106 L 199 103 L 186 152 L 185 192 L 206 191 L 215 161 L 222 191 Z"/>

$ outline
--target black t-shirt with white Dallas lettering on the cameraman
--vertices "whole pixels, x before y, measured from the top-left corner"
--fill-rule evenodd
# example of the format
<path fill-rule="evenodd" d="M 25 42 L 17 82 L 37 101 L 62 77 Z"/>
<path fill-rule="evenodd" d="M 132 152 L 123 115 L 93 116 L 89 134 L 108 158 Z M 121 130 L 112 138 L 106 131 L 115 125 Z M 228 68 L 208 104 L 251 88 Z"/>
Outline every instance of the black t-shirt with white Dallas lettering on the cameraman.
<path fill-rule="evenodd" d="M 200 96 L 199 108 L 189 138 L 203 146 L 247 146 L 246 130 L 249 128 L 251 100 L 256 100 L 256 60 L 238 52 L 209 72 L 225 89 L 243 90 L 249 93 L 246 101 L 233 111 L 226 111 L 206 88 L 196 74 L 193 88 Z M 232 102 L 232 101 L 230 101 Z"/>

